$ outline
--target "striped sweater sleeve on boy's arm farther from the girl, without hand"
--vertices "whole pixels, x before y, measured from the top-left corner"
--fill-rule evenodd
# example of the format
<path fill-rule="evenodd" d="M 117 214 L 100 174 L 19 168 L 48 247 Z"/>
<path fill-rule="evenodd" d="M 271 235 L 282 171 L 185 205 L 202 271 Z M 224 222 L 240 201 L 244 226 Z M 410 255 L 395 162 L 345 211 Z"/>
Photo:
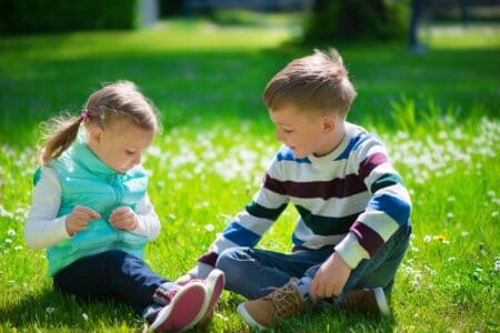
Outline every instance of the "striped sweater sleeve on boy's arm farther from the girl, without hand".
<path fill-rule="evenodd" d="M 411 202 L 401 176 L 377 138 L 367 135 L 352 152 L 352 158 L 371 199 L 336 251 L 354 269 L 362 259 L 372 258 L 401 225 L 409 222 Z"/>

